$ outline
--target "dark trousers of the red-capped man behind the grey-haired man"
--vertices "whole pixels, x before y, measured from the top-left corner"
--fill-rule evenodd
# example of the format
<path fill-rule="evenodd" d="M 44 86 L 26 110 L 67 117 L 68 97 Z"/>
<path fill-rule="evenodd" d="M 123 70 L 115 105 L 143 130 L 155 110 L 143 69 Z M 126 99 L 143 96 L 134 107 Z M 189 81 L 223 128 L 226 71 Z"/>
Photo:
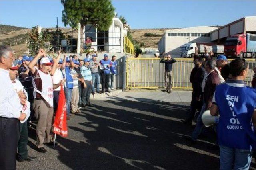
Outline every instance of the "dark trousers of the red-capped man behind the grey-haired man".
<path fill-rule="evenodd" d="M 18 154 L 21 159 L 28 156 L 28 125 L 27 121 L 20 123 L 20 138 L 18 141 Z"/>

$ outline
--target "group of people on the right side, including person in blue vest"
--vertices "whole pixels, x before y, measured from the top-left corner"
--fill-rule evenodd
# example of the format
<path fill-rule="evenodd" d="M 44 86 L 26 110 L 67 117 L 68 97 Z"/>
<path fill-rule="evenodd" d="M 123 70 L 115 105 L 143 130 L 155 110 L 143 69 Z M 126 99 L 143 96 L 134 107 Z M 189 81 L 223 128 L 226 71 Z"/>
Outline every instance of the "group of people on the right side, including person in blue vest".
<path fill-rule="evenodd" d="M 192 100 L 188 117 L 182 122 L 192 125 L 196 110 L 199 115 L 194 131 L 186 139 L 194 144 L 201 133 L 207 134 L 202 115 L 210 110 L 210 115 L 219 116 L 217 124 L 213 124 L 217 141 L 211 149 L 220 150 L 220 170 L 248 170 L 256 149 L 256 76 L 250 88 L 244 83 L 248 76 L 244 59 L 228 63 L 226 56 L 212 55 L 194 57 L 195 66 L 190 74 Z"/>

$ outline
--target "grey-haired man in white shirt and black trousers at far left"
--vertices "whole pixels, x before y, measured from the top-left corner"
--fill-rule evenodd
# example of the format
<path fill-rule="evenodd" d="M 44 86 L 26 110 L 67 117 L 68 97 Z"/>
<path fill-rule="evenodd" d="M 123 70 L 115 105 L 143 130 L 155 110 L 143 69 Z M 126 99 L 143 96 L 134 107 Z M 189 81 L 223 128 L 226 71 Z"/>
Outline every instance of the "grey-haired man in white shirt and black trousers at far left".
<path fill-rule="evenodd" d="M 16 150 L 19 136 L 19 122 L 24 121 L 21 101 L 12 86 L 9 68 L 14 56 L 12 49 L 0 46 L 0 169 L 16 169 Z"/>

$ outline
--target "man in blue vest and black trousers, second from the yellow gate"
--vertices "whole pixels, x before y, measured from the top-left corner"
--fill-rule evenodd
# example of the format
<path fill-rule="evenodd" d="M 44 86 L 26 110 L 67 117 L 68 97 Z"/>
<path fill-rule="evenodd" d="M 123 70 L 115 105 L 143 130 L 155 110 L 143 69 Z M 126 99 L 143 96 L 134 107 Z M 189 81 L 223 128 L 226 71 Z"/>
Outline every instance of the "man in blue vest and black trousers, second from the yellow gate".
<path fill-rule="evenodd" d="M 109 78 L 110 78 L 110 67 L 112 66 L 112 62 L 108 59 L 108 55 L 104 54 L 104 59 L 102 59 L 100 61 L 100 64 L 103 67 L 103 72 L 102 72 L 102 93 L 106 92 L 110 92 L 110 90 L 108 90 L 109 87 Z"/>

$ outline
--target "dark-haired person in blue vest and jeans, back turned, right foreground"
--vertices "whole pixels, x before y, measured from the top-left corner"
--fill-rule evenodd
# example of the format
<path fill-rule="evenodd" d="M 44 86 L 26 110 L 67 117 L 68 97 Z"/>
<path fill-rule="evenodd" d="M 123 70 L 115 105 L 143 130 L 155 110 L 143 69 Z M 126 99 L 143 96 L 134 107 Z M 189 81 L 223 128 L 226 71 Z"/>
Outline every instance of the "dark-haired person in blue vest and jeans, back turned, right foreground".
<path fill-rule="evenodd" d="M 235 59 L 230 63 L 231 80 L 216 87 L 210 109 L 220 115 L 217 127 L 220 146 L 220 170 L 248 170 L 252 147 L 256 146 L 256 90 L 246 86 L 248 63 Z M 255 149 L 255 148 L 254 148 Z"/>

